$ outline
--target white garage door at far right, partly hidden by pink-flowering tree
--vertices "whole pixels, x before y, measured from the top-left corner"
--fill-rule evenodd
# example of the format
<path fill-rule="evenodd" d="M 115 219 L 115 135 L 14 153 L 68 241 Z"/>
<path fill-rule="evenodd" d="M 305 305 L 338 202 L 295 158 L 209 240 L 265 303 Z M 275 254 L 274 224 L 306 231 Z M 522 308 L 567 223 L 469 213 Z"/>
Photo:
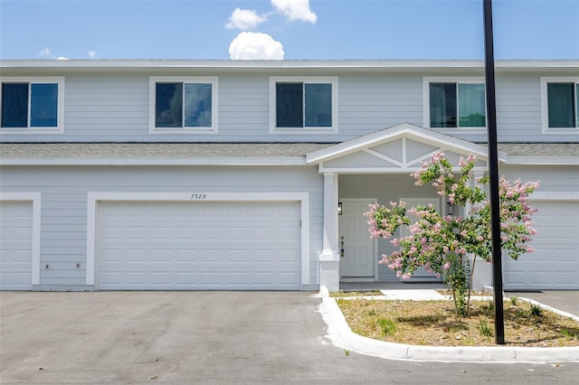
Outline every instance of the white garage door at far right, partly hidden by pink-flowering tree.
<path fill-rule="evenodd" d="M 531 202 L 534 252 L 505 258 L 506 289 L 579 289 L 579 202 Z"/>

